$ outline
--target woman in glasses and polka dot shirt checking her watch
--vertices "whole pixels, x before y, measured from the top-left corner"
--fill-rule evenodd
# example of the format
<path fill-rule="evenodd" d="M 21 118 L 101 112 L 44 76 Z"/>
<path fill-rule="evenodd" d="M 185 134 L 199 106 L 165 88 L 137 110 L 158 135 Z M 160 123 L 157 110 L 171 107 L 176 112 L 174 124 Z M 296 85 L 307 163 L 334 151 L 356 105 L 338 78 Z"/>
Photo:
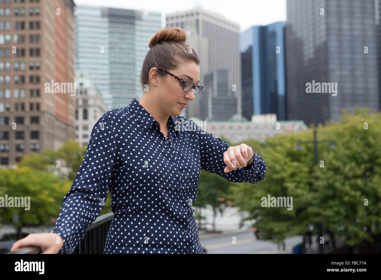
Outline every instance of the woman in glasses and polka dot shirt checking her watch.
<path fill-rule="evenodd" d="M 54 229 L 28 235 L 11 251 L 34 245 L 72 253 L 109 189 L 114 217 L 104 253 L 203 253 L 191 208 L 200 170 L 254 184 L 266 164 L 245 144 L 230 147 L 199 126 L 178 129 L 182 110 L 203 88 L 199 55 L 185 41 L 178 27 L 154 35 L 140 77 L 144 95 L 98 120 Z"/>

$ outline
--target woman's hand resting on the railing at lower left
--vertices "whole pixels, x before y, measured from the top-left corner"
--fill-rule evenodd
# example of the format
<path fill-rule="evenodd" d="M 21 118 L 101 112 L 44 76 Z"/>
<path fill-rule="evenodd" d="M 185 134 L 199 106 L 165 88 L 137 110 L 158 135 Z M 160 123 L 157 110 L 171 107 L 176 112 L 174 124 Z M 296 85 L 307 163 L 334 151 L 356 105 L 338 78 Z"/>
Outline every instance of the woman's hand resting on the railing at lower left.
<path fill-rule="evenodd" d="M 62 237 L 55 232 L 29 234 L 13 243 L 11 252 L 21 247 L 37 246 L 41 248 L 42 254 L 57 254 L 63 245 Z"/>

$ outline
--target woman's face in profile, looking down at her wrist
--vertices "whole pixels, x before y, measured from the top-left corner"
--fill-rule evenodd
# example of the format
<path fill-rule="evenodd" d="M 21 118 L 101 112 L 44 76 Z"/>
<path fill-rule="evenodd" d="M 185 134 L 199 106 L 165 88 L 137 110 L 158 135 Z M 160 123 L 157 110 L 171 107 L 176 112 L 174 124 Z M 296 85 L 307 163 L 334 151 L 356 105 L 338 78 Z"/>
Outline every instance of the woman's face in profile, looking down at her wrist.
<path fill-rule="evenodd" d="M 195 62 L 186 62 L 181 64 L 177 69 L 165 70 L 185 81 L 193 82 L 195 85 L 200 79 L 200 67 Z M 182 83 L 169 74 L 166 74 L 160 83 L 158 83 L 157 90 L 160 109 L 170 116 L 181 115 L 182 110 L 185 108 L 180 103 L 187 103 L 194 99 L 193 89 L 187 92 L 183 91 Z"/>

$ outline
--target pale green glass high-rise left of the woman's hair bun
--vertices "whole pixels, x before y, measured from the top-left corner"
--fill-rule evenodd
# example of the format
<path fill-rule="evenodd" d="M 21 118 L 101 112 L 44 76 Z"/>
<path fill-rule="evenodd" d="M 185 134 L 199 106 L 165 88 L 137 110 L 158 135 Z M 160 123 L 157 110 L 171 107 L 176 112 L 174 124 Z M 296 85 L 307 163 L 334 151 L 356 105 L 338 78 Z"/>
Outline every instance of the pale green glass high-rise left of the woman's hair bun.
<path fill-rule="evenodd" d="M 127 106 L 144 91 L 139 81 L 149 40 L 161 14 L 97 6 L 75 7 L 77 70 L 86 70 L 109 109 Z"/>

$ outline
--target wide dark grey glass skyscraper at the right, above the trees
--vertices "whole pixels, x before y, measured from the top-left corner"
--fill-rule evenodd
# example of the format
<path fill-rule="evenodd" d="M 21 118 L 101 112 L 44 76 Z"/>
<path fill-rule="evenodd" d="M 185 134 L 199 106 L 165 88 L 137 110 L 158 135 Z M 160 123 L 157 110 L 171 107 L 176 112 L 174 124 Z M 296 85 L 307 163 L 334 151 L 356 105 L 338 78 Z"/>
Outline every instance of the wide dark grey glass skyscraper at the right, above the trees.
<path fill-rule="evenodd" d="M 338 121 L 342 109 L 379 109 L 374 0 L 287 0 L 290 120 Z"/>

